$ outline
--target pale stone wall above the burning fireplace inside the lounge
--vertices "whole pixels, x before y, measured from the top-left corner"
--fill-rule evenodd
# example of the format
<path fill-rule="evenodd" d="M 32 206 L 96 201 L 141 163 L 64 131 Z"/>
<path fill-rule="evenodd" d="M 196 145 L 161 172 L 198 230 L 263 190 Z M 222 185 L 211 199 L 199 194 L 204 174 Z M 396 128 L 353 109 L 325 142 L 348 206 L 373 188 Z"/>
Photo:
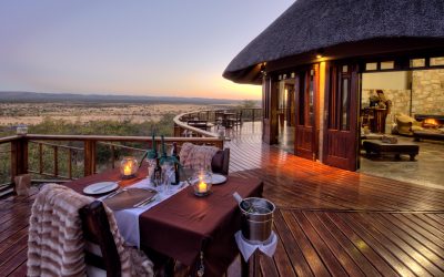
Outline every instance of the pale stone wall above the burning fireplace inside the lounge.
<path fill-rule="evenodd" d="M 413 71 L 412 113 L 444 114 L 444 69 Z"/>

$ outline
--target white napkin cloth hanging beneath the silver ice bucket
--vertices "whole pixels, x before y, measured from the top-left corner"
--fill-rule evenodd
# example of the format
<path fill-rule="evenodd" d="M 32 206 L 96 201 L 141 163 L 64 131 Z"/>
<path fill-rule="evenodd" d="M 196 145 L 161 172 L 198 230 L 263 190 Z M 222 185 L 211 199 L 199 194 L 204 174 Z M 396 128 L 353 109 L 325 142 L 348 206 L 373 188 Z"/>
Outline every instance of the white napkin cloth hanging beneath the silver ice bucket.
<path fill-rule="evenodd" d="M 245 261 L 249 260 L 250 256 L 253 255 L 256 249 L 269 257 L 273 257 L 278 246 L 278 236 L 274 230 L 272 230 L 270 238 L 265 242 L 266 244 L 250 244 L 242 237 L 241 230 L 234 234 L 234 238 L 236 240 L 239 250 L 242 253 L 242 257 Z"/>

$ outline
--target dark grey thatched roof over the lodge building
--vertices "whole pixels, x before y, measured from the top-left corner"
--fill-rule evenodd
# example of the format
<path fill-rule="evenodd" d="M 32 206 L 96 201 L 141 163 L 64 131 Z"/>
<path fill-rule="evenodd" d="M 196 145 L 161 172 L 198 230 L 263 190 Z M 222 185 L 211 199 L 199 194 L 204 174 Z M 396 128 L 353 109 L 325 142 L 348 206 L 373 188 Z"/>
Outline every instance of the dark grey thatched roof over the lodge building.
<path fill-rule="evenodd" d="M 444 39 L 444 1 L 297 0 L 231 61 L 223 76 L 249 82 L 262 62 L 384 38 Z"/>

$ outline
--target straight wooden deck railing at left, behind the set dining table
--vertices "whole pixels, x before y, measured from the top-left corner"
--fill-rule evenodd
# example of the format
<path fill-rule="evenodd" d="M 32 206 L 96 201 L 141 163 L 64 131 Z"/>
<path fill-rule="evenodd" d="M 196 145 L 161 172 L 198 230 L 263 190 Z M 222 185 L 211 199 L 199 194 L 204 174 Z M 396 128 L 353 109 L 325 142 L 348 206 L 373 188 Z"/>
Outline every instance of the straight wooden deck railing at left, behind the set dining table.
<path fill-rule="evenodd" d="M 223 148 L 223 140 L 219 137 L 165 137 L 164 141 L 167 145 L 175 142 L 179 147 L 191 142 Z M 160 147 L 161 137 L 155 137 L 155 142 Z M 114 167 L 121 155 L 134 155 L 137 152 L 142 156 L 149 147 L 152 147 L 152 138 L 149 136 L 28 134 L 2 137 L 0 151 L 1 154 L 9 155 L 10 161 L 9 168 L 8 165 L 3 166 L 7 168 L 0 168 L 0 184 L 11 185 L 14 176 L 26 173 L 31 173 L 33 179 L 40 176 L 47 181 L 48 177 L 51 181 L 62 181 L 88 176 Z M 103 153 L 108 153 L 110 158 L 101 161 Z"/>

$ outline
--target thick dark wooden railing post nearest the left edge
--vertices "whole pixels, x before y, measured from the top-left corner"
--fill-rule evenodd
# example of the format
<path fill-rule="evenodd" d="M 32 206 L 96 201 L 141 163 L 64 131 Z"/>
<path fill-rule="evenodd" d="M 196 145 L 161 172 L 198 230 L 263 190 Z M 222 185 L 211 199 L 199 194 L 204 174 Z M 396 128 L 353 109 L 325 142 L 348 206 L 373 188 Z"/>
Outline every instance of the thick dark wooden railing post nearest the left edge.
<path fill-rule="evenodd" d="M 28 173 L 28 138 L 26 136 L 11 142 L 11 182 L 20 174 Z"/>

